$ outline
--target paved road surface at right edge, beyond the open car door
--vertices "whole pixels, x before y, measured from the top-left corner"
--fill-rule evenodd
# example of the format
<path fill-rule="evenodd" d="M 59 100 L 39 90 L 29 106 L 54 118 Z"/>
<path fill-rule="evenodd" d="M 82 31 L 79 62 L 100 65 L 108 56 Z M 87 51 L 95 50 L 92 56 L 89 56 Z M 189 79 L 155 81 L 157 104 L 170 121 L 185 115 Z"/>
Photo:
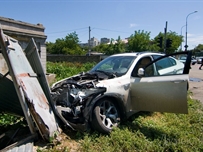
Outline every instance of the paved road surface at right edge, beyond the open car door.
<path fill-rule="evenodd" d="M 200 64 L 191 66 L 189 90 L 193 93 L 192 98 L 200 100 L 203 104 L 203 67 L 199 70 Z"/>

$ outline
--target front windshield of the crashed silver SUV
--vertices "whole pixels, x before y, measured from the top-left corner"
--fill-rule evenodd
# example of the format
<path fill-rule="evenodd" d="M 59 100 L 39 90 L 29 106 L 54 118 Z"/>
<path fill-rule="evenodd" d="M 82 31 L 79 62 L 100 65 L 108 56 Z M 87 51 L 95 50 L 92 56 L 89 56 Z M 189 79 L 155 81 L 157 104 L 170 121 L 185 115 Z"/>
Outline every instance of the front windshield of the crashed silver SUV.
<path fill-rule="evenodd" d="M 98 63 L 90 72 L 105 72 L 121 76 L 128 71 L 135 58 L 136 56 L 111 56 Z"/>

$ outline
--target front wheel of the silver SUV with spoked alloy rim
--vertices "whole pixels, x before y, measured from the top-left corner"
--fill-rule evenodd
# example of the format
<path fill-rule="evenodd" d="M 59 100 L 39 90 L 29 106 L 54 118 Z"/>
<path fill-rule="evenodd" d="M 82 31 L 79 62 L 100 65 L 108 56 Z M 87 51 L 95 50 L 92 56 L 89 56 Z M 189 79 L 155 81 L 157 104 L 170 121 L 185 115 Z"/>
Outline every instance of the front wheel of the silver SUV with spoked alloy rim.
<path fill-rule="evenodd" d="M 101 133 L 110 133 L 120 123 L 118 106 L 110 99 L 98 101 L 93 109 L 92 127 Z"/>

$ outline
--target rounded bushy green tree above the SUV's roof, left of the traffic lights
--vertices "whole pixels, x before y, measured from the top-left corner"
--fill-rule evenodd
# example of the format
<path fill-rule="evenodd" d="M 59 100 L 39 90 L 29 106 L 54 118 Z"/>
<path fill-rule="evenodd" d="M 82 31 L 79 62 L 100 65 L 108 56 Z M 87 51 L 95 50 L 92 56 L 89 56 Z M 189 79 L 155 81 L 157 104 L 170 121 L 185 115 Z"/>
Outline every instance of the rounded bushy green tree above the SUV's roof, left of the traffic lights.
<path fill-rule="evenodd" d="M 128 50 L 142 52 L 151 50 L 150 32 L 135 31 L 128 39 Z"/>

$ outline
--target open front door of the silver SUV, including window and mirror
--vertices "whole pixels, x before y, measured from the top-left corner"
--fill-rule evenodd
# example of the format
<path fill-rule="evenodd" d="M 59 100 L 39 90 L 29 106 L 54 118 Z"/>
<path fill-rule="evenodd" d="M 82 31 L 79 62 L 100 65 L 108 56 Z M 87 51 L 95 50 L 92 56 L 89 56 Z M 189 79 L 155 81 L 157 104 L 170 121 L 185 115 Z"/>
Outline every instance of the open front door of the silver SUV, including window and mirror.
<path fill-rule="evenodd" d="M 190 54 L 188 58 L 189 56 Z M 184 65 L 170 56 L 165 56 L 139 69 L 140 77 L 131 77 L 130 96 L 133 110 L 188 113 L 188 64 L 190 65 L 189 59 Z M 150 70 L 152 72 L 149 75 Z"/>

